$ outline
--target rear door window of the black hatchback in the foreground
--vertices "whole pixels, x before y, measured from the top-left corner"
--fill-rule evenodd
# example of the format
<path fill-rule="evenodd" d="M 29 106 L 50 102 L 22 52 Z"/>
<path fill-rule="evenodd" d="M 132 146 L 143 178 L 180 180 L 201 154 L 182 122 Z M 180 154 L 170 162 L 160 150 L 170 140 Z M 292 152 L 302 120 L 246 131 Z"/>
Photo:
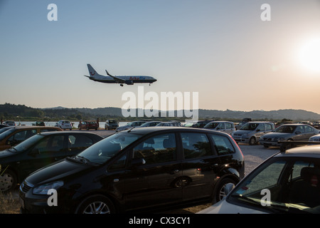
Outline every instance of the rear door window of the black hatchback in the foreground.
<path fill-rule="evenodd" d="M 185 159 L 213 155 L 210 142 L 206 134 L 181 133 L 183 155 Z"/>

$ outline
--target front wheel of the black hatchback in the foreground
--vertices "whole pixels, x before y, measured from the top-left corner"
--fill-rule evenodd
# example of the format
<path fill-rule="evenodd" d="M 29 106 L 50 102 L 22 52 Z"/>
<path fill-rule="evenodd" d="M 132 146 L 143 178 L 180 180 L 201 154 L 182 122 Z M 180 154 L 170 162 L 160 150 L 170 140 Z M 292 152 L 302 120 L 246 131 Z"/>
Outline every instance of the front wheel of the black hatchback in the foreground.
<path fill-rule="evenodd" d="M 113 203 L 104 195 L 87 197 L 80 203 L 76 211 L 77 214 L 112 214 L 114 212 Z"/>

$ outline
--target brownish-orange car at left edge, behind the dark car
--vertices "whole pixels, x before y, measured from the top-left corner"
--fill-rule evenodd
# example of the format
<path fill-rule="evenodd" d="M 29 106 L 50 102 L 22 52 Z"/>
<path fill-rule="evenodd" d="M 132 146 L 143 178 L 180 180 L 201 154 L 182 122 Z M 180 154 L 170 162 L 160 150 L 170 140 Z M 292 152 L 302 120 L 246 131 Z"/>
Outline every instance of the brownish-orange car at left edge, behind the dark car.
<path fill-rule="evenodd" d="M 9 127 L 10 128 L 10 127 Z M 2 128 L 4 129 L 4 128 Z M 1 130 L 2 130 L 1 129 Z M 27 138 L 38 133 L 44 133 L 47 131 L 61 130 L 56 127 L 42 127 L 42 126 L 16 126 L 4 131 L 0 134 L 0 150 L 6 150 L 14 145 L 18 145 Z"/>

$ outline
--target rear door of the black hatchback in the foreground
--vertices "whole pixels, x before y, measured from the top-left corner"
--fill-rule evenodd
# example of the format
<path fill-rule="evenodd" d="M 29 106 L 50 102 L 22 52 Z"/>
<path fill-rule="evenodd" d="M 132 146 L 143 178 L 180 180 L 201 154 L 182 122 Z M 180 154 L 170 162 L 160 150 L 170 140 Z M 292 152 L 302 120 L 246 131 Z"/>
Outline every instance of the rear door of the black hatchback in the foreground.
<path fill-rule="evenodd" d="M 215 156 L 205 133 L 181 133 L 183 148 L 183 200 L 210 197 L 219 170 L 220 159 Z"/>

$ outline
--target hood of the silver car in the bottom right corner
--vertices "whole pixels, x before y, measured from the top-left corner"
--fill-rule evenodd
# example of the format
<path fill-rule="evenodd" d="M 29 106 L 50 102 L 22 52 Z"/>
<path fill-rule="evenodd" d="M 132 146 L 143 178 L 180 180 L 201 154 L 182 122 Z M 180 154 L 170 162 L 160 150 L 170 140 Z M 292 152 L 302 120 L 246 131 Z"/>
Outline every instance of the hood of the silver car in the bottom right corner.
<path fill-rule="evenodd" d="M 240 207 L 235 204 L 230 204 L 225 199 L 213 204 L 212 206 L 203 209 L 197 214 L 267 214 L 257 209 L 251 209 L 249 207 Z"/>

